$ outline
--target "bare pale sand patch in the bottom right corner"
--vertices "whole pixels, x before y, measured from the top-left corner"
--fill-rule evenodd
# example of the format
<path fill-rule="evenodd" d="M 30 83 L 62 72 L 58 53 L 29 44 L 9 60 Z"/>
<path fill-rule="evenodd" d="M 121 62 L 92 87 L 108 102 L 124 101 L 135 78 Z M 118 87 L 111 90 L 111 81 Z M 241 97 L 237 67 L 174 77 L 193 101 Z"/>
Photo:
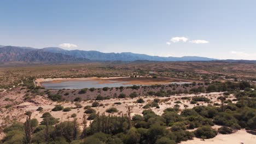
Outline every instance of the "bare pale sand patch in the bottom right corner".
<path fill-rule="evenodd" d="M 245 129 L 241 129 L 236 131 L 236 133 L 223 135 L 218 134 L 216 137 L 212 139 L 206 139 L 203 141 L 202 139 L 194 138 L 194 140 L 183 141 L 181 144 L 255 144 L 256 143 L 256 135 L 252 135 L 246 132 Z"/>

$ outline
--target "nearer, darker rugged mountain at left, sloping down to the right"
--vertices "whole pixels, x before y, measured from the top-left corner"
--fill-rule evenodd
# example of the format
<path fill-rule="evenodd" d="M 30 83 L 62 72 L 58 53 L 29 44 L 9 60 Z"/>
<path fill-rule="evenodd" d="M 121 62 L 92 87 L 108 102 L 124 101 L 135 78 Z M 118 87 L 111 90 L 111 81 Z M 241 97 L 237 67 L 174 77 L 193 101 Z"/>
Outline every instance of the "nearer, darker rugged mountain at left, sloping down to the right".
<path fill-rule="evenodd" d="M 46 52 L 32 47 L 4 46 L 0 47 L 0 61 L 73 62 L 89 61 L 89 59 L 63 55 L 62 53 Z"/>

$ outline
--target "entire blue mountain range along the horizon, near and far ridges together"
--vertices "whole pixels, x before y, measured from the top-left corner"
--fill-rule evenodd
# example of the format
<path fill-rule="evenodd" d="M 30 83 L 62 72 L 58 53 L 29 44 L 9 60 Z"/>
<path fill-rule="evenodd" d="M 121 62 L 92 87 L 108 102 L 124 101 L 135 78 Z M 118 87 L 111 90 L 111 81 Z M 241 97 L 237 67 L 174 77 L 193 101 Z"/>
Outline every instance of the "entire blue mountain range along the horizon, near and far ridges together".
<path fill-rule="evenodd" d="M 76 61 L 213 61 L 217 59 L 196 56 L 159 57 L 144 54 L 121 52 L 103 53 L 99 51 L 64 50 L 59 47 L 2 46 L 0 45 L 0 61 L 24 62 L 76 62 Z"/>

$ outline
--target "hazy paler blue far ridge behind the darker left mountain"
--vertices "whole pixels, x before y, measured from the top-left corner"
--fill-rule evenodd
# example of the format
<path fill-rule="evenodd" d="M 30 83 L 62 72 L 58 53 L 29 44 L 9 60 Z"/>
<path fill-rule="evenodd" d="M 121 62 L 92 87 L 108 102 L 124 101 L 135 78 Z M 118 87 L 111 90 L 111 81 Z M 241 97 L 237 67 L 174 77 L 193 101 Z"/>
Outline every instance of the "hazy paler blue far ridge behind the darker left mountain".
<path fill-rule="evenodd" d="M 132 52 L 121 52 L 121 53 L 103 53 L 99 51 L 82 51 L 82 50 L 64 50 L 59 47 L 46 47 L 42 49 L 47 52 L 62 53 L 64 55 L 70 55 L 79 58 L 88 58 L 92 61 L 213 61 L 217 59 L 207 57 L 159 57 L 149 56 L 144 54 L 137 54 Z"/>

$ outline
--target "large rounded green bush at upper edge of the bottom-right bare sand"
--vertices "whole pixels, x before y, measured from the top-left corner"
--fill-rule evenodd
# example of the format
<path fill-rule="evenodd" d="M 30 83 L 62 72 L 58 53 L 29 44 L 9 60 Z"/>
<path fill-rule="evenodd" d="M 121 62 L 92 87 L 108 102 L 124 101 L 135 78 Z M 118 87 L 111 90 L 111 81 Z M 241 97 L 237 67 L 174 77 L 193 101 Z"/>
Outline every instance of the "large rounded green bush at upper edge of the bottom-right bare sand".
<path fill-rule="evenodd" d="M 202 126 L 195 130 L 195 136 L 201 139 L 211 139 L 217 135 L 217 131 L 210 126 Z"/>

